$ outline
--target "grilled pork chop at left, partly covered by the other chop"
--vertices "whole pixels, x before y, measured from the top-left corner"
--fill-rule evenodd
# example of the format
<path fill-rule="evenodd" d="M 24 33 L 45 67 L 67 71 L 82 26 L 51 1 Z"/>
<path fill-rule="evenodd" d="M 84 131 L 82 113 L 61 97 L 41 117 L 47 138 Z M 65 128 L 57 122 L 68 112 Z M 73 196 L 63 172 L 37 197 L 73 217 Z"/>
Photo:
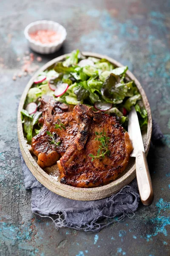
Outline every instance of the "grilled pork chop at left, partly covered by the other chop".
<path fill-rule="evenodd" d="M 31 151 L 38 158 L 41 168 L 54 165 L 73 143 L 77 135 L 78 125 L 72 116 L 73 106 L 56 102 L 53 97 L 42 97 L 40 111 L 43 123 L 42 130 L 32 138 Z M 61 125 L 62 124 L 62 125 Z M 56 128 L 58 125 L 58 128 Z M 55 144 L 52 144 L 52 134 Z"/>

